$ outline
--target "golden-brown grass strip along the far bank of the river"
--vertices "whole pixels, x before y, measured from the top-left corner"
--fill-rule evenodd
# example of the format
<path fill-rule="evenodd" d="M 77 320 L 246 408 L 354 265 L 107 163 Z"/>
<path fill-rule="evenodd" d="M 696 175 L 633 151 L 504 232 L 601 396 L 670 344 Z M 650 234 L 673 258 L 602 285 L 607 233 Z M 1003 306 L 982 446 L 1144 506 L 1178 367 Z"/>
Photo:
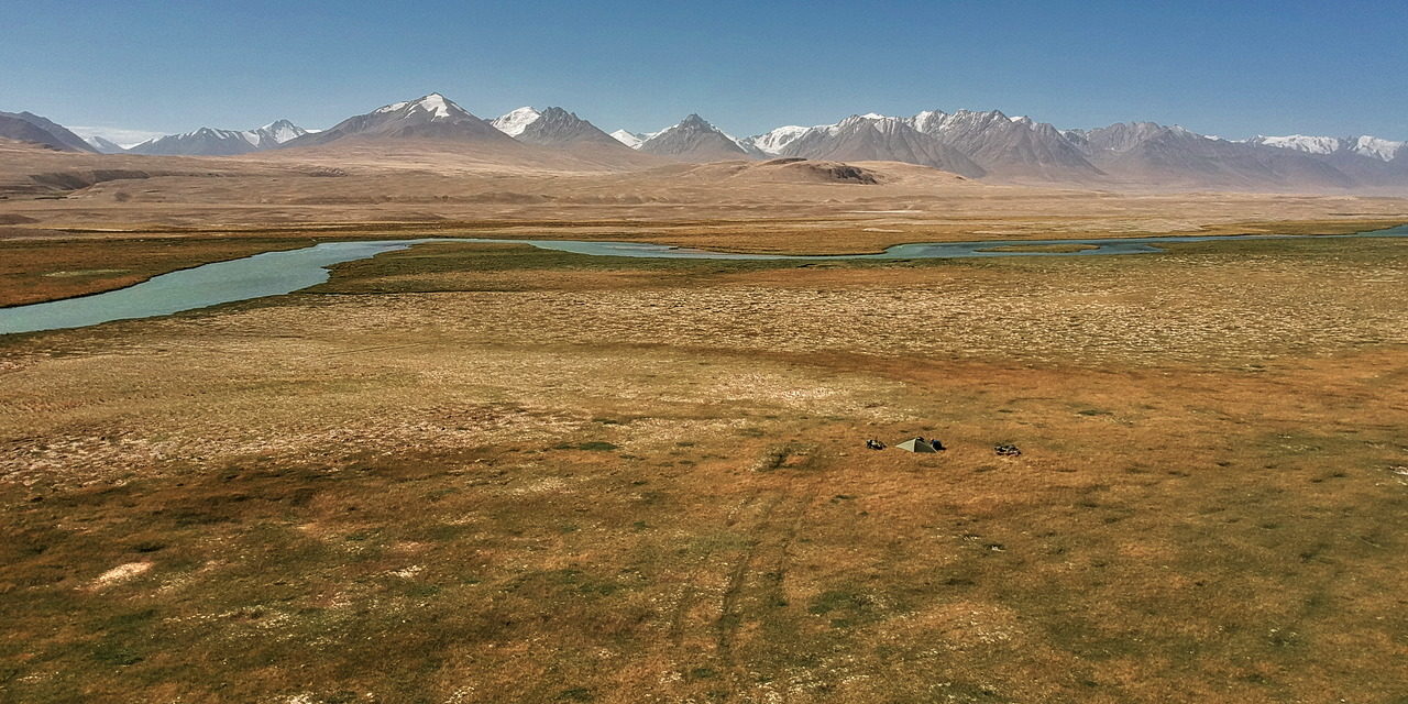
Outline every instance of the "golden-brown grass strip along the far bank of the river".
<path fill-rule="evenodd" d="M 1405 211 L 1408 213 L 1408 211 Z M 1408 215 L 1405 215 L 1408 218 Z M 258 252 L 310 246 L 320 241 L 486 237 L 524 239 L 611 239 L 753 253 L 866 253 L 905 242 L 990 238 L 1048 239 L 1143 235 L 1347 234 L 1402 224 L 1402 220 L 1297 220 L 1183 224 L 1157 221 L 1086 221 L 1070 217 L 1005 217 L 1004 230 L 986 218 L 936 224 L 924 220 L 897 228 L 860 227 L 841 218 L 629 221 L 446 221 L 351 222 L 228 228 L 27 230 L 4 238 L 0 231 L 0 306 L 17 306 L 120 289 L 159 273 Z M 1136 230 L 1150 227 L 1153 230 Z M 0 228 L 3 230 L 3 228 Z M 1080 245 L 1038 246 L 1069 252 Z M 994 251 L 1002 251 L 997 248 Z M 1015 245 L 1011 251 L 1033 251 Z M 424 272 L 415 273 L 415 276 Z M 444 273 L 444 272 L 442 272 Z M 474 272 L 466 272 L 473 276 Z M 625 272 L 629 279 L 638 270 Z M 513 286 L 513 284 L 507 284 Z"/>

